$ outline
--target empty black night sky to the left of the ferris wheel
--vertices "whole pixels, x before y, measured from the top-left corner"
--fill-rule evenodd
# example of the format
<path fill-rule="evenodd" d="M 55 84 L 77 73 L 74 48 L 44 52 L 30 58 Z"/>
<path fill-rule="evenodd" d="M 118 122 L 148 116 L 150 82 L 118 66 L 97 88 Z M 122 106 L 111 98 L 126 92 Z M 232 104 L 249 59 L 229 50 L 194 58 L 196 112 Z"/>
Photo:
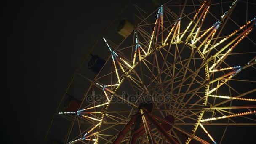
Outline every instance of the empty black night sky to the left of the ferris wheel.
<path fill-rule="evenodd" d="M 7 135 L 5 140 L 34 144 L 43 140 L 75 69 L 107 25 L 119 19 L 121 9 L 131 3 L 9 1 L 5 13 L 11 25 L 6 35 L 10 40 L 6 60 L 10 90 L 3 96 L 7 98 L 4 111 L 8 125 L 3 124 L 6 131 L 1 130 Z"/>

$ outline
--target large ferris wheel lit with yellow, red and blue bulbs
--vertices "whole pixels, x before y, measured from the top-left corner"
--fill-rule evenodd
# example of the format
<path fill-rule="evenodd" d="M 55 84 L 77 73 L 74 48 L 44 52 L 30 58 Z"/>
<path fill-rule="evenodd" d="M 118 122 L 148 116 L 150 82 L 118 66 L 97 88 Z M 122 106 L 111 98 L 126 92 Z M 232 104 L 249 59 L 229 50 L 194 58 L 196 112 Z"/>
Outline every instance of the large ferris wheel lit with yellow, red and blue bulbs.
<path fill-rule="evenodd" d="M 255 127 L 256 13 L 248 7 L 256 3 L 136 7 L 139 22 L 122 21 L 121 43 L 103 38 L 109 56 L 94 57 L 96 77 L 80 74 L 91 84 L 78 110 L 58 113 L 72 122 L 67 143 L 218 144 L 228 126 Z"/>

